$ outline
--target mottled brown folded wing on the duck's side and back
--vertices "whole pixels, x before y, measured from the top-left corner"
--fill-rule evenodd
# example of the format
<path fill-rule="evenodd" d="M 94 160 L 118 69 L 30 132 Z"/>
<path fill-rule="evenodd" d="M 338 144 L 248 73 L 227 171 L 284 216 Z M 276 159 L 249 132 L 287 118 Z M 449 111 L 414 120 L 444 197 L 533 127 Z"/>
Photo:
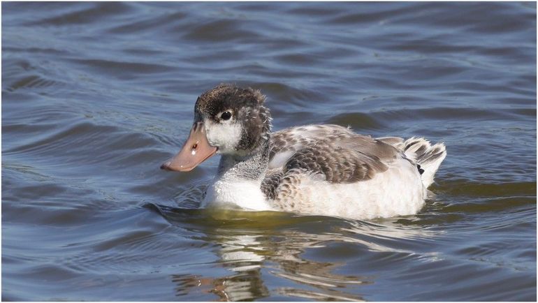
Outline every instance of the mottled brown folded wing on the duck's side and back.
<path fill-rule="evenodd" d="M 270 167 L 282 165 L 284 175 L 298 168 L 328 182 L 351 183 L 384 172 L 398 154 L 393 146 L 342 126 L 301 126 L 272 135 Z"/>

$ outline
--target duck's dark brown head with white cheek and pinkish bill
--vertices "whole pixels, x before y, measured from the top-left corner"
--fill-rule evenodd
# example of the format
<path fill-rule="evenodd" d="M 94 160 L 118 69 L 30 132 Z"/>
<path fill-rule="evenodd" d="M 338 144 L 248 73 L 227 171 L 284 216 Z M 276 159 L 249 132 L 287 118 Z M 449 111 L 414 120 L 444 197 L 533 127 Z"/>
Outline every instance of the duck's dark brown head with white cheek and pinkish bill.
<path fill-rule="evenodd" d="M 247 156 L 269 140 L 266 97 L 251 88 L 220 84 L 201 94 L 187 142 L 161 169 L 188 172 L 217 154 Z"/>

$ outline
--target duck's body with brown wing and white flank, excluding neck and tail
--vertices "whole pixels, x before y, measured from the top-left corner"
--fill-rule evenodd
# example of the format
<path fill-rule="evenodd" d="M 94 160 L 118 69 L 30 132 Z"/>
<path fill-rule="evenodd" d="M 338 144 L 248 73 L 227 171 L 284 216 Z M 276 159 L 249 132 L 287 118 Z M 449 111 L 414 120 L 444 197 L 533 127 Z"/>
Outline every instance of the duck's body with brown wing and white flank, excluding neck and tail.
<path fill-rule="evenodd" d="M 420 167 L 398 148 L 402 142 L 336 125 L 278 131 L 262 190 L 273 207 L 289 212 L 356 219 L 415 214 L 425 188 Z"/>

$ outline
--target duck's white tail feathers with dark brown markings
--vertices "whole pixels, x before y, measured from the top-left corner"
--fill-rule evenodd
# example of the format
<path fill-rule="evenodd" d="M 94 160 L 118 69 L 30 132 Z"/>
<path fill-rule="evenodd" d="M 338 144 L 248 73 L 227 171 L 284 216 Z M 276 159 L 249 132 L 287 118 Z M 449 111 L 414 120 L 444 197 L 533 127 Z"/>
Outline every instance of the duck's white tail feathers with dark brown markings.
<path fill-rule="evenodd" d="M 443 143 L 431 145 L 430 141 L 424 138 L 401 138 L 386 137 L 378 138 L 397 149 L 401 149 L 407 158 L 414 161 L 421 172 L 422 184 L 426 189 L 433 183 L 435 172 L 439 169 L 442 161 L 446 157 L 446 147 Z"/>

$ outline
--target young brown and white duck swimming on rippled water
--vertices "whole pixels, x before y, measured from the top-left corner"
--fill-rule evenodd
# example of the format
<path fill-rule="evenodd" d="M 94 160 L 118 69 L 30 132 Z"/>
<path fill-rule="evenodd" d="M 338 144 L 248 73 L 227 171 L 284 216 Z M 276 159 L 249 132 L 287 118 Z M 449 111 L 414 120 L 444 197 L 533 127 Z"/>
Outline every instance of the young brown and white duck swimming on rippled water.
<path fill-rule="evenodd" d="M 266 96 L 219 84 L 198 96 L 189 137 L 161 169 L 221 156 L 200 207 L 376 219 L 417 214 L 446 157 L 425 138 L 372 138 L 333 124 L 272 133 Z"/>

